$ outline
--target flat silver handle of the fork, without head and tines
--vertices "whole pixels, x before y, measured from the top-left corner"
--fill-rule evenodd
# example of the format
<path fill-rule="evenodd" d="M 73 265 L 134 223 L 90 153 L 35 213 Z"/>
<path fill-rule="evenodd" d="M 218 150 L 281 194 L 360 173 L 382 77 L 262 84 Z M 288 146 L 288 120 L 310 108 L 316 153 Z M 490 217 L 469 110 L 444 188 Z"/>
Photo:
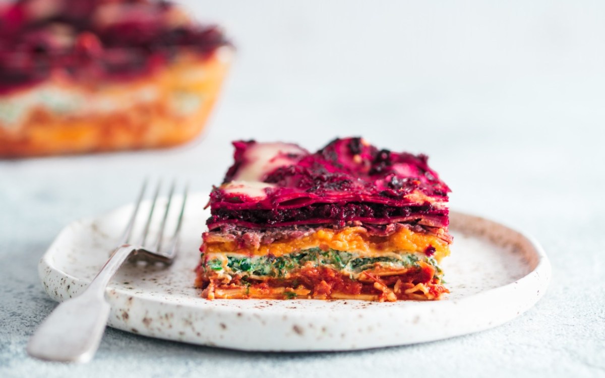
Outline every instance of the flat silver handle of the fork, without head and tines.
<path fill-rule="evenodd" d="M 128 244 L 118 247 L 82 294 L 59 304 L 42 322 L 27 344 L 27 353 L 50 361 L 90 361 L 110 314 L 105 288 L 136 249 Z"/>

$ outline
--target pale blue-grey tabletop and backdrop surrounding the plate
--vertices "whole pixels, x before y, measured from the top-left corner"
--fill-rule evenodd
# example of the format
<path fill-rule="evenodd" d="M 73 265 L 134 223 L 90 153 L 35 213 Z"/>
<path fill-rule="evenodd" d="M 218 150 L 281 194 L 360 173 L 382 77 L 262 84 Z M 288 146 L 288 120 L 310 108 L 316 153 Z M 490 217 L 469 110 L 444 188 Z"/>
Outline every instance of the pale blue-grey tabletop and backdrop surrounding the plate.
<path fill-rule="evenodd" d="M 605 376 L 603 2 L 186 4 L 238 47 L 202 138 L 0 161 L 0 377 Z M 534 235 L 546 296 L 492 330 L 407 347 L 241 353 L 108 329 L 87 365 L 27 356 L 56 305 L 36 264 L 70 221 L 128 203 L 145 175 L 208 191 L 234 139 L 316 149 L 345 135 L 430 155 L 454 209 Z"/>

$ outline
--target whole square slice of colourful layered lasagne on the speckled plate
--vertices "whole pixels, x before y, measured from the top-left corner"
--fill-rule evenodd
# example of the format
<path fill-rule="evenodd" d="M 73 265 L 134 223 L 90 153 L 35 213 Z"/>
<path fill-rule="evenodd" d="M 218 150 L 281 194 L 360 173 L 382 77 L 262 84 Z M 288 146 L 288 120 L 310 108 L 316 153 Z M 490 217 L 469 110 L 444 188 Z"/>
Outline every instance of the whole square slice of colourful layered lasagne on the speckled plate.
<path fill-rule="evenodd" d="M 196 285 L 215 298 L 439 299 L 448 192 L 425 155 L 336 139 L 235 142 Z"/>

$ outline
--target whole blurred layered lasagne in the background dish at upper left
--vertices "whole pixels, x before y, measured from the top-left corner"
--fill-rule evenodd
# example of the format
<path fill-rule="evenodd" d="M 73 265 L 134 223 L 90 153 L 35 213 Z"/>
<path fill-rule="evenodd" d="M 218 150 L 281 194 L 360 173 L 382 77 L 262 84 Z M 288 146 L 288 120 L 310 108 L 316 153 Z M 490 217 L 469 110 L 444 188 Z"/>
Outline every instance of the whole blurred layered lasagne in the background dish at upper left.
<path fill-rule="evenodd" d="M 191 140 L 231 50 L 169 1 L 0 2 L 0 157 Z"/>

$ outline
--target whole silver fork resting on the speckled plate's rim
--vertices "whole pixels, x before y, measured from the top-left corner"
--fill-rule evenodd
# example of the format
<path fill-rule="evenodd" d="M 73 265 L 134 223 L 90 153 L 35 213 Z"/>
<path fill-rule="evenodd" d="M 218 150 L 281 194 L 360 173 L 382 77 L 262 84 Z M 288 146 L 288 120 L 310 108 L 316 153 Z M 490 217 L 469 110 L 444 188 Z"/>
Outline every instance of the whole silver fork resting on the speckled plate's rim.
<path fill-rule="evenodd" d="M 143 183 L 139 197 L 137 197 L 134 211 L 128 221 L 119 246 L 113 251 L 110 259 L 105 262 L 97 276 L 79 296 L 59 304 L 53 312 L 40 325 L 31 336 L 27 345 L 27 353 L 39 359 L 60 362 L 88 362 L 99 348 L 107 319 L 110 314 L 110 305 L 105 299 L 105 288 L 110 279 L 116 274 L 126 259 L 131 261 L 147 261 L 149 263 L 162 262 L 171 264 L 178 249 L 178 236 L 183 223 L 183 212 L 187 201 L 188 189 L 183 191 L 183 203 L 178 214 L 177 226 L 168 242 L 168 248 L 163 249 L 163 234 L 166 220 L 174 195 L 175 183 L 169 189 L 168 201 L 164 210 L 160 229 L 153 244 L 147 244 L 149 227 L 155 204 L 160 193 L 161 183 L 154 191 L 149 215 L 147 217 L 142 235 L 131 243 L 132 229 L 139 213 L 139 207 L 145 195 L 147 181 Z"/>

